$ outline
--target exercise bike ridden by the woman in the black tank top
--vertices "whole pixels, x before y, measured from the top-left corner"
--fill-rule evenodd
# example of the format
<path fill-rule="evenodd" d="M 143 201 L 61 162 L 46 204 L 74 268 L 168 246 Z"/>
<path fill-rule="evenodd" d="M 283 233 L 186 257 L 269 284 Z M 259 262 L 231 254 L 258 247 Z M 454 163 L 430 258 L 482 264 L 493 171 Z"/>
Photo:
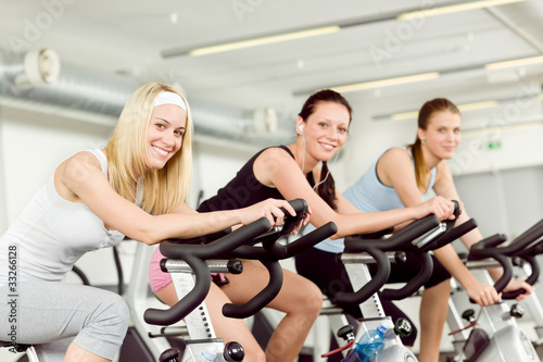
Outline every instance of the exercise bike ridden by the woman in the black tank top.
<path fill-rule="evenodd" d="M 459 214 L 456 203 L 455 220 Z M 416 221 L 394 234 L 389 239 L 380 239 L 380 234 L 369 236 L 348 237 L 345 239 L 345 251 L 338 255 L 339 262 L 345 265 L 354 294 L 339 292 L 336 295 L 337 304 L 359 304 L 364 319 L 358 326 L 357 336 L 354 337 L 354 328 L 344 324 L 345 316 L 336 314 L 329 317 L 332 330 L 337 330 L 338 344 L 340 338 L 350 342 L 359 340 L 368 330 L 386 327 L 383 349 L 375 355 L 371 361 L 417 361 L 415 354 L 403 346 L 400 336 L 411 334 L 411 324 L 405 320 L 399 320 L 395 324 L 389 316 L 384 315 L 380 299 L 376 294 L 386 283 L 390 274 L 390 263 L 405 260 L 406 251 L 413 252 L 420 261 L 418 274 L 403 288 L 393 290 L 384 289 L 382 298 L 399 300 L 416 292 L 431 276 L 432 260 L 428 251 L 445 246 L 459 236 L 473 229 L 477 224 L 473 220 L 454 227 L 455 220 L 439 222 L 435 216 L 429 215 Z M 381 233 L 382 234 L 382 233 Z M 370 276 L 366 264 L 377 262 L 377 274 Z M 348 346 L 345 345 L 345 346 Z M 343 353 L 345 353 L 345 346 Z"/>

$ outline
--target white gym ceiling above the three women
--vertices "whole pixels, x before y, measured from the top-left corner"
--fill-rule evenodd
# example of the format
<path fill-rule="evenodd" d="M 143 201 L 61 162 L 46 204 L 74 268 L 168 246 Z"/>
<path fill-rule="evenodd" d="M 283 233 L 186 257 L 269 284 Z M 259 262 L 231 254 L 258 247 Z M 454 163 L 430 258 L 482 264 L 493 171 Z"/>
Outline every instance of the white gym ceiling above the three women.
<path fill-rule="evenodd" d="M 441 72 L 438 79 L 344 95 L 372 115 L 514 99 L 540 91 L 543 63 L 502 71 L 483 64 L 543 54 L 543 1 L 400 21 L 394 15 L 439 0 L 2 0 L 0 47 L 51 48 L 62 62 L 141 82 L 181 85 L 202 99 L 251 111 L 298 113 L 315 89 Z M 201 57 L 162 51 L 326 25 L 340 32 Z M 34 29 L 34 32 L 33 32 Z M 37 32 L 36 32 L 37 30 Z M 18 40 L 18 42 L 17 42 Z"/>

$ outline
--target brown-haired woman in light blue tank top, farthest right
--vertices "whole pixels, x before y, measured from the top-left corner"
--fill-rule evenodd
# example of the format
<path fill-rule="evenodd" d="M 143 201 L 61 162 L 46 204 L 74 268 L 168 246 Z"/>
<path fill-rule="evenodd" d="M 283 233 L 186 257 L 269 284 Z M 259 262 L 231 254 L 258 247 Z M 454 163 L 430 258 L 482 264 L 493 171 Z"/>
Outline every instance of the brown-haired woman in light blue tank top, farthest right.
<path fill-rule="evenodd" d="M 422 202 L 431 190 L 446 199 L 459 200 L 446 160 L 453 158 L 460 141 L 460 113 L 451 101 L 438 98 L 426 102 L 419 112 L 415 143 L 387 150 L 343 194 L 344 197 L 365 212 L 413 207 Z M 457 224 L 467 220 L 469 216 L 463 208 Z M 481 233 L 477 228 L 462 237 L 468 249 L 481 239 Z M 343 245 L 338 240 L 326 240 L 316 248 L 341 252 Z M 441 340 L 437 336 L 441 336 L 443 332 L 451 289 L 449 278 L 445 277 L 446 272 L 453 275 L 468 296 L 479 304 L 489 305 L 500 300 L 492 286 L 476 280 L 452 246 L 435 250 L 434 257 L 432 278 L 435 282 L 430 287 L 425 286 L 420 307 L 424 311 L 420 313 L 420 362 L 439 359 Z M 491 274 L 497 279 L 501 272 L 491 271 Z M 528 290 L 527 294 L 533 290 L 533 287 L 523 280 L 512 280 L 506 289 L 519 288 Z M 523 297 L 526 295 L 518 299 Z"/>

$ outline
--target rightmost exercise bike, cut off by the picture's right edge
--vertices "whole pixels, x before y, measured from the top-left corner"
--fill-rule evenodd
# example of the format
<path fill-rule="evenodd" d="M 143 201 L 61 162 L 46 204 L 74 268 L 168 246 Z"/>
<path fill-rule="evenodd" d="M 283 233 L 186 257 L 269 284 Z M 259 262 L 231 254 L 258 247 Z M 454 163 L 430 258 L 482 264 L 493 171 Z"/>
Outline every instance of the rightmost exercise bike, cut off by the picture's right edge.
<path fill-rule="evenodd" d="M 495 282 L 494 287 L 501 292 L 513 276 L 510 258 L 520 258 L 531 267 L 531 274 L 526 282 L 533 285 L 540 273 L 535 255 L 543 252 L 543 221 L 540 221 L 527 232 L 513 240 L 507 247 L 498 247 L 506 237 L 493 235 L 473 245 L 469 251 L 467 266 L 483 270 L 485 282 L 493 280 L 485 271 L 488 267 L 502 266 L 503 275 Z M 489 261 L 489 258 L 495 262 Z M 497 262 L 497 263 L 496 263 Z M 515 299 L 525 290 L 502 294 L 502 299 Z M 451 313 L 452 312 L 452 313 Z M 475 317 L 473 310 L 467 310 L 463 317 L 469 322 L 464 327 L 454 304 L 450 304 L 447 323 L 455 338 L 456 355 L 450 361 L 487 362 L 487 361 L 540 361 L 532 342 L 519 328 L 516 320 L 523 315 L 519 304 L 510 308 L 504 301 L 482 307 Z M 467 329 L 472 327 L 468 336 Z"/>

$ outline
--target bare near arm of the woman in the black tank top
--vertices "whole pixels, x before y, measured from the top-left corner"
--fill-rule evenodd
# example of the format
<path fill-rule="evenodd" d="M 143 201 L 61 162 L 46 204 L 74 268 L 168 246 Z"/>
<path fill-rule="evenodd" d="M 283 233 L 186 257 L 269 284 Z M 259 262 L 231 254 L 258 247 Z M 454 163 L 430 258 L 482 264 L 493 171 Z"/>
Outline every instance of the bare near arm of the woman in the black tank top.
<path fill-rule="evenodd" d="M 375 233 L 408 220 L 416 220 L 429 213 L 441 219 L 452 212 L 452 203 L 444 199 L 432 200 L 414 208 L 397 209 L 375 213 L 354 213 L 355 209 L 343 197 L 339 198 L 338 212 L 332 210 L 310 186 L 296 162 L 283 150 L 270 148 L 255 161 L 254 173 L 264 185 L 276 187 L 285 199 L 304 199 L 312 210 L 311 222 L 319 227 L 330 221 L 338 226 L 332 238 L 353 234 Z M 339 194 L 339 192 L 338 192 Z M 447 203 L 451 203 L 449 213 Z"/>

